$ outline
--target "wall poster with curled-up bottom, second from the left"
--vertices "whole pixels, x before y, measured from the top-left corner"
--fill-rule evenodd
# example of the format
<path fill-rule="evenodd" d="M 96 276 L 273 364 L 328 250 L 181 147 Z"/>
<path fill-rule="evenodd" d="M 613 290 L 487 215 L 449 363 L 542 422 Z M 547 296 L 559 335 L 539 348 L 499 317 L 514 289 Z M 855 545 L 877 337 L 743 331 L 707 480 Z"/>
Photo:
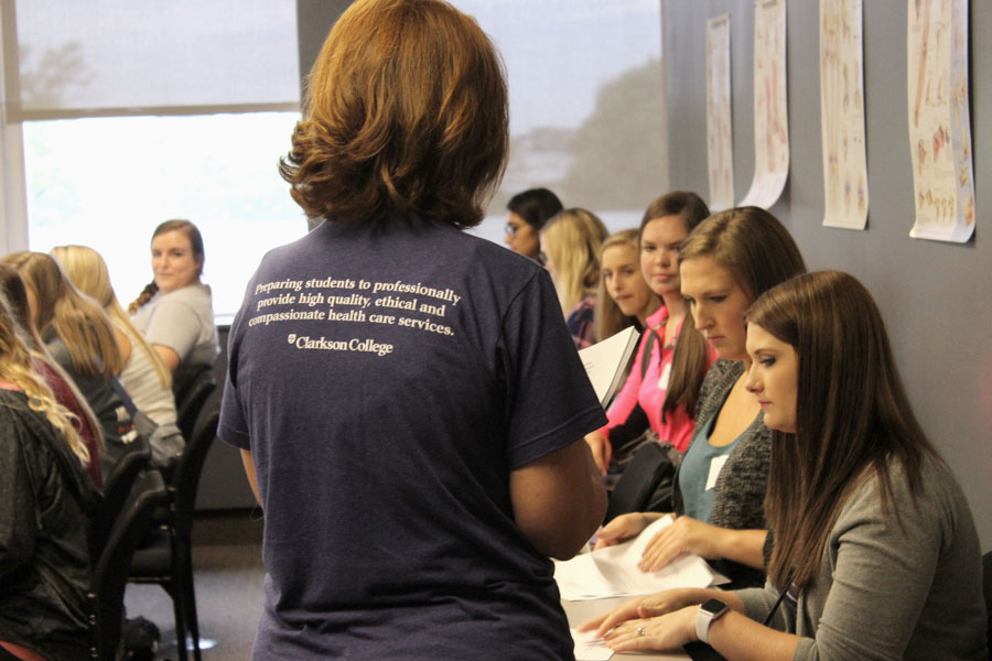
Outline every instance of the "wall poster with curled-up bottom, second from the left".
<path fill-rule="evenodd" d="M 754 178 L 742 206 L 769 208 L 789 175 L 786 0 L 754 2 Z"/>

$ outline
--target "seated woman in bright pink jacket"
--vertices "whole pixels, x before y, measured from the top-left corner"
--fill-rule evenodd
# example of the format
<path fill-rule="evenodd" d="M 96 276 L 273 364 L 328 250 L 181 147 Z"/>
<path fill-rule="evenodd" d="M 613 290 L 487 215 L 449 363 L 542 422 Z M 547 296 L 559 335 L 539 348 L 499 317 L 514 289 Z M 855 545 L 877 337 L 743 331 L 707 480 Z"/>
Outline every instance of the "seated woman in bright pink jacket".
<path fill-rule="evenodd" d="M 614 447 L 636 438 L 648 427 L 659 442 L 671 443 L 679 452 L 689 444 L 699 388 L 715 356 L 691 326 L 681 344 L 677 344 L 686 318 L 679 291 L 678 251 L 709 215 L 707 204 L 698 195 L 683 191 L 661 195 L 644 213 L 639 271 L 661 305 L 646 319 L 647 329 L 634 367 L 606 413 L 610 422 L 585 437 L 604 474 L 613 463 Z"/>

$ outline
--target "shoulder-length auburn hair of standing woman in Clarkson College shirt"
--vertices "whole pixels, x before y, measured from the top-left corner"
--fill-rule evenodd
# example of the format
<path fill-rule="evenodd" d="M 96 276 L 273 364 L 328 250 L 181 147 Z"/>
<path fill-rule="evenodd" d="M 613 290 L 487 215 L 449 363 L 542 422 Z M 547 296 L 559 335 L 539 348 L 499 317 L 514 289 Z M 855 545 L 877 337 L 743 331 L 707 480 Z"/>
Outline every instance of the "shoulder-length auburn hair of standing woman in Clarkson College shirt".
<path fill-rule="evenodd" d="M 358 0 L 308 82 L 280 173 L 311 217 L 483 218 L 508 150 L 506 82 L 470 17 L 438 0 Z"/>

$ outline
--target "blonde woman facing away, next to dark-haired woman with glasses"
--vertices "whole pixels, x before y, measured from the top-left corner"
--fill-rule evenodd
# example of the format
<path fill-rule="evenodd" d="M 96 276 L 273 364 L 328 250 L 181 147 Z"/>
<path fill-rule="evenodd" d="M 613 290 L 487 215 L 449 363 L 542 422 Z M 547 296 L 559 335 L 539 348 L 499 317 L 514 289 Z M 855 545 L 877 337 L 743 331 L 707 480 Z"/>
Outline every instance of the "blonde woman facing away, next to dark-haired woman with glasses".
<path fill-rule="evenodd" d="M 593 311 L 600 283 L 600 248 L 607 234 L 595 214 L 580 208 L 561 212 L 541 231 L 544 268 L 579 349 L 596 343 Z"/>

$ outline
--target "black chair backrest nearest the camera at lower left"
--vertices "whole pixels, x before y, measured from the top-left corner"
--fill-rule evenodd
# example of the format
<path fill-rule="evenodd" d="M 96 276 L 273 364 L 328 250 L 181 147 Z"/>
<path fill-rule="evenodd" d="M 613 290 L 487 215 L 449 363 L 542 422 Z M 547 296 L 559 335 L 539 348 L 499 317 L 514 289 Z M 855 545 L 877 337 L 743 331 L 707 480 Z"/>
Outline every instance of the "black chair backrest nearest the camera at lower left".
<path fill-rule="evenodd" d="M 97 661 L 115 661 L 117 658 L 123 619 L 123 593 L 131 559 L 148 532 L 152 511 L 169 500 L 162 476 L 154 470 L 144 473 L 138 487 L 114 523 L 93 571 L 87 600 L 90 658 Z"/>

